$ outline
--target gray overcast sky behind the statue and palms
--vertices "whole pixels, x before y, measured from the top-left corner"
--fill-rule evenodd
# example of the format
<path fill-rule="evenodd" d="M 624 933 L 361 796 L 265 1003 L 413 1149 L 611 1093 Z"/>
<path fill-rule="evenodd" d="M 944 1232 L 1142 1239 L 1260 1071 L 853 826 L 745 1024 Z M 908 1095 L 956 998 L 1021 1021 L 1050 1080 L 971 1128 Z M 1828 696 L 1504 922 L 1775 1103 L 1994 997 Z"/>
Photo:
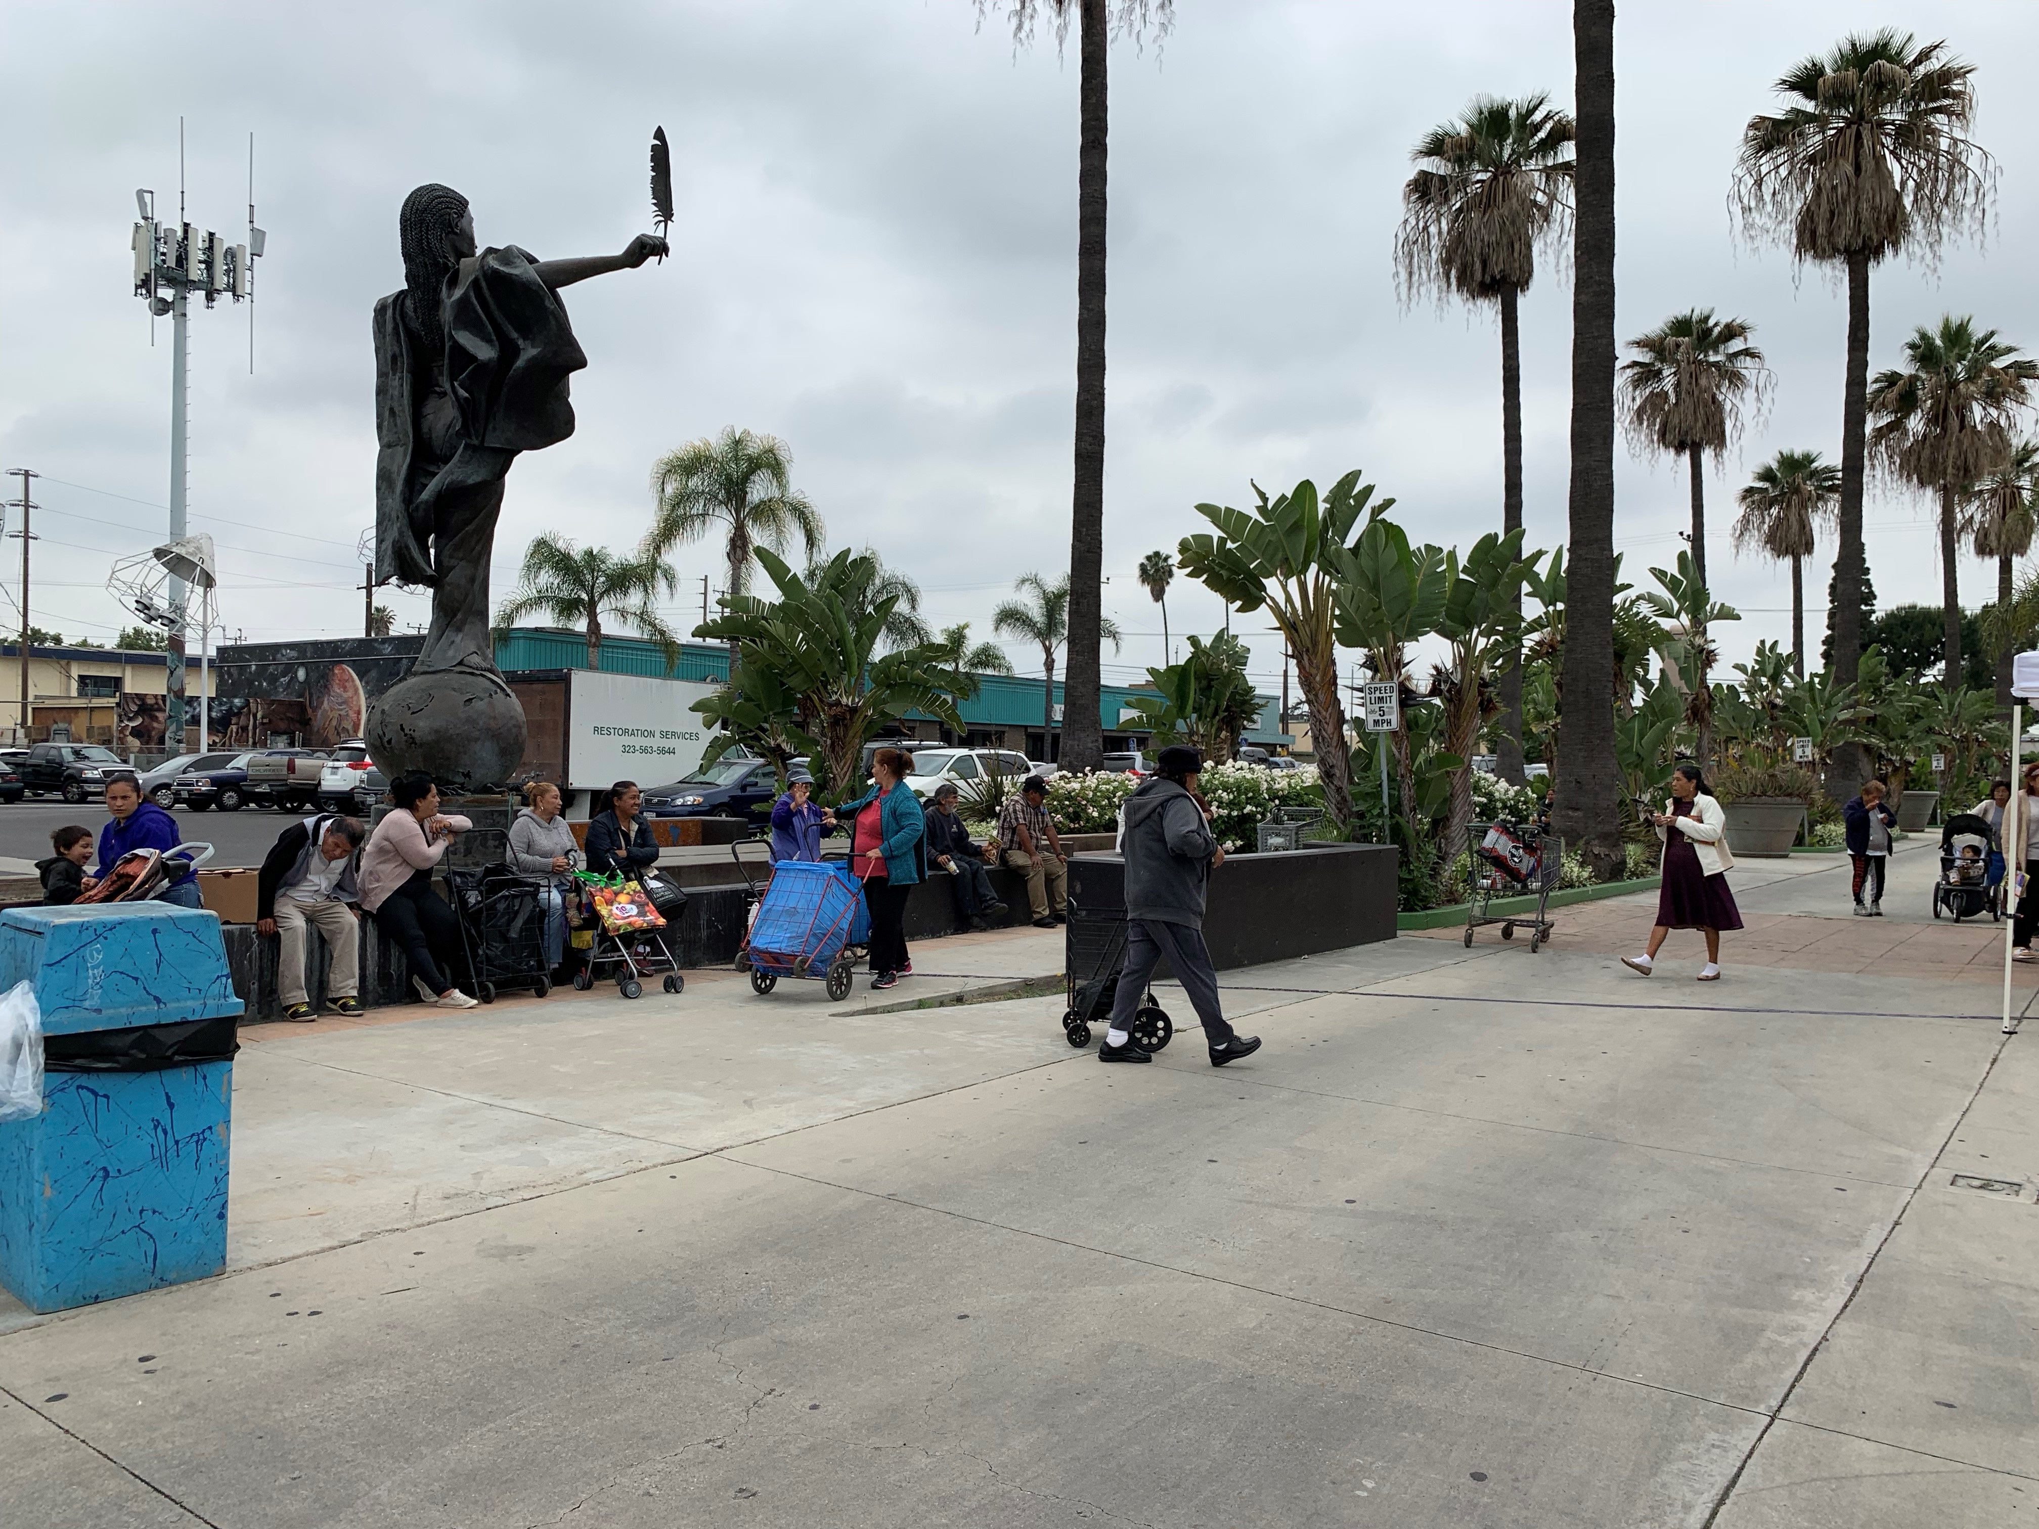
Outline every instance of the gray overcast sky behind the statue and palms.
<path fill-rule="evenodd" d="M 1980 141 L 2000 165 L 1986 249 L 1939 271 L 1880 269 L 1872 367 L 1941 312 L 2039 347 L 2029 263 L 2039 100 L 2017 98 L 2039 10 L 2008 4 L 1713 2 L 1629 6 L 1617 27 L 1619 332 L 1688 306 L 1756 324 L 1776 404 L 1709 473 L 1715 583 L 1743 612 L 1729 658 L 1788 640 L 1788 579 L 1733 561 L 1733 489 L 1778 446 L 1837 457 L 1845 304 L 1782 251 L 1737 247 L 1727 188 L 1741 124 L 1772 80 L 1849 27 L 1945 37 L 1980 63 Z M 498 597 L 524 542 L 559 530 L 628 546 L 655 457 L 726 424 L 783 436 L 832 546 L 877 546 L 934 622 L 989 612 L 1013 575 L 1068 559 L 1075 396 L 1077 61 L 1052 37 L 1013 51 L 969 0 L 722 4 L 253 6 L 204 16 L 94 0 L 0 12 L 0 467 L 37 483 L 33 618 L 108 640 L 118 555 L 161 538 L 169 326 L 130 296 L 133 190 L 245 239 L 255 133 L 255 375 L 249 312 L 192 320 L 192 528 L 224 565 L 222 618 L 247 640 L 361 630 L 353 548 L 373 522 L 369 310 L 402 285 L 396 214 L 420 181 L 473 204 L 483 245 L 620 249 L 648 228 L 646 143 L 665 124 L 675 259 L 567 294 L 589 357 L 577 434 L 516 465 Z M 1111 53 L 1111 318 L 1105 610 L 1126 630 L 1107 679 L 1160 661 L 1140 557 L 1250 499 L 1248 479 L 1319 487 L 1360 467 L 1425 540 L 1501 520 L 1499 338 L 1488 312 L 1401 312 L 1389 263 L 1409 145 L 1480 92 L 1572 94 L 1570 10 L 1493 0 L 1450 24 L 1360 0 L 1179 0 L 1162 47 Z M 1564 540 L 1570 287 L 1523 304 L 1527 524 Z M 12 491 L 12 479 L 8 479 Z M 1617 467 L 1625 573 L 1668 565 L 1682 471 Z M 1882 605 L 1939 603 L 1929 508 L 1872 489 Z M 8 530 L 18 512 L 8 512 Z M 18 585 L 0 552 L 0 622 Z M 699 616 L 712 546 L 673 618 Z M 1811 632 L 1827 561 L 1809 573 Z M 1964 599 L 1994 589 L 1964 559 Z M 408 628 L 422 597 L 385 591 Z M 1172 630 L 1209 632 L 1215 597 L 1179 579 Z M 1242 628 L 1264 618 L 1242 618 Z M 1248 630 L 1254 673 L 1278 642 Z M 1815 638 L 1817 640 L 1817 638 Z M 1011 648 L 1022 673 L 1038 652 Z"/>

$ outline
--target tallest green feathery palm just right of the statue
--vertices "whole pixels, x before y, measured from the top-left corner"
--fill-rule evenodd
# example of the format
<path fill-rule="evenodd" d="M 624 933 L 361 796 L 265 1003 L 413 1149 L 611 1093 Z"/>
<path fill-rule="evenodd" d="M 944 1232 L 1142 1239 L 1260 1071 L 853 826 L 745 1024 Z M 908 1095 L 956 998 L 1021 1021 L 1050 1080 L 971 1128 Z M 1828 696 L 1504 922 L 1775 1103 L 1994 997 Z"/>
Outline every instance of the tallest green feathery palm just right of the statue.
<path fill-rule="evenodd" d="M 644 536 L 644 557 L 663 559 L 724 524 L 730 595 L 750 587 L 759 546 L 783 555 L 797 538 L 809 559 L 822 548 L 822 514 L 793 489 L 793 453 L 779 436 L 730 426 L 714 440 L 689 440 L 652 465 L 650 487 L 659 510 Z M 730 663 L 736 663 L 734 644 Z"/>

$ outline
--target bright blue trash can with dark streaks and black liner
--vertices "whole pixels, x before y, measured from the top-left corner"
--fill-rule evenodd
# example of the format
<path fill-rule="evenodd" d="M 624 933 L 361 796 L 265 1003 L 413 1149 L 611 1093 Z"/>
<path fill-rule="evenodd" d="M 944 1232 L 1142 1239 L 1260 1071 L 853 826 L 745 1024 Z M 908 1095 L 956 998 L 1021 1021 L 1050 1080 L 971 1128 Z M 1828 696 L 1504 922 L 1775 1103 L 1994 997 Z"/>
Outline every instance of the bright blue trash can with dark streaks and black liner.
<path fill-rule="evenodd" d="M 43 1011 L 43 1113 L 0 1123 L 0 1284 L 65 1311 L 226 1264 L 234 1019 L 216 915 L 0 913 L 0 991 Z"/>

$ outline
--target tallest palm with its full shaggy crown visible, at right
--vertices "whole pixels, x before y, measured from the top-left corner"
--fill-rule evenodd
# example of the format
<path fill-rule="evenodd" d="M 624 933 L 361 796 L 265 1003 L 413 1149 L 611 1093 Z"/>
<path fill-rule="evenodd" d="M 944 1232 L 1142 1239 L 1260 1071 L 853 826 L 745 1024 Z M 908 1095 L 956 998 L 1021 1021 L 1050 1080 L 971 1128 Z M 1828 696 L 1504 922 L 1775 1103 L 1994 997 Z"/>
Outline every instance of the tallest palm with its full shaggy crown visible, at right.
<path fill-rule="evenodd" d="M 1847 377 L 1841 391 L 1841 499 L 1835 597 L 1827 612 L 1833 675 L 1862 675 L 1862 479 L 1868 461 L 1870 267 L 1915 249 L 1929 259 L 1947 232 L 1982 232 L 1988 155 L 1968 139 L 1974 67 L 1945 43 L 1882 29 L 1843 37 L 1776 82 L 1784 110 L 1741 135 L 1733 204 L 1752 234 L 1784 239 L 1792 257 L 1847 271 Z M 1829 779 L 1864 775 L 1855 744 L 1835 750 Z"/>

